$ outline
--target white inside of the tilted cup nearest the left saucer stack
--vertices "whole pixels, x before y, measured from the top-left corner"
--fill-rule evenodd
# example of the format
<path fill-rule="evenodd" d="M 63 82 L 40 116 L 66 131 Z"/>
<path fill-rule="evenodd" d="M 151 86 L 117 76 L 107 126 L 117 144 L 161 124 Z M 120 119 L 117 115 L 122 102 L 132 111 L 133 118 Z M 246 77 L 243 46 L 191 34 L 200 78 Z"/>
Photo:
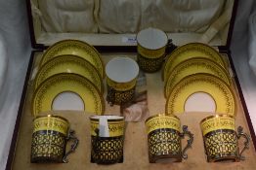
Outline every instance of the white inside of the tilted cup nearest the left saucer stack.
<path fill-rule="evenodd" d="M 107 62 L 107 77 L 116 83 L 128 83 L 139 75 L 137 62 L 129 57 L 115 57 Z"/>

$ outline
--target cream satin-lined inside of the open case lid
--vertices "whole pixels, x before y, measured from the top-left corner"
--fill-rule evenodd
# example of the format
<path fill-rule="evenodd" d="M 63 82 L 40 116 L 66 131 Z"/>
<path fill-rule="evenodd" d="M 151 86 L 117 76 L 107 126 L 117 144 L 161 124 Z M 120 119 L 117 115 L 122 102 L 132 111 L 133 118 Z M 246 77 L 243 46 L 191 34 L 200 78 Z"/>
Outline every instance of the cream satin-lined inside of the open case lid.
<path fill-rule="evenodd" d="M 237 0 L 27 0 L 33 48 L 64 39 L 99 47 L 135 47 L 147 27 L 177 46 L 201 42 L 229 49 Z"/>

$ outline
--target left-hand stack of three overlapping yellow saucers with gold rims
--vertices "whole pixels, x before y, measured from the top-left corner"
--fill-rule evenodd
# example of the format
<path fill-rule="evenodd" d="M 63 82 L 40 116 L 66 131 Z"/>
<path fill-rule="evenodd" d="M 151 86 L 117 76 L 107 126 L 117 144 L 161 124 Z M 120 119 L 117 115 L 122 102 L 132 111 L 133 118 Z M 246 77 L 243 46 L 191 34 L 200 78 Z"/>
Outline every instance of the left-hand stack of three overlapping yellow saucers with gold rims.
<path fill-rule="evenodd" d="M 54 110 L 55 99 L 66 92 L 81 99 L 84 111 L 103 115 L 104 77 L 101 55 L 92 46 L 78 40 L 54 44 L 43 53 L 33 82 L 32 115 Z"/>

